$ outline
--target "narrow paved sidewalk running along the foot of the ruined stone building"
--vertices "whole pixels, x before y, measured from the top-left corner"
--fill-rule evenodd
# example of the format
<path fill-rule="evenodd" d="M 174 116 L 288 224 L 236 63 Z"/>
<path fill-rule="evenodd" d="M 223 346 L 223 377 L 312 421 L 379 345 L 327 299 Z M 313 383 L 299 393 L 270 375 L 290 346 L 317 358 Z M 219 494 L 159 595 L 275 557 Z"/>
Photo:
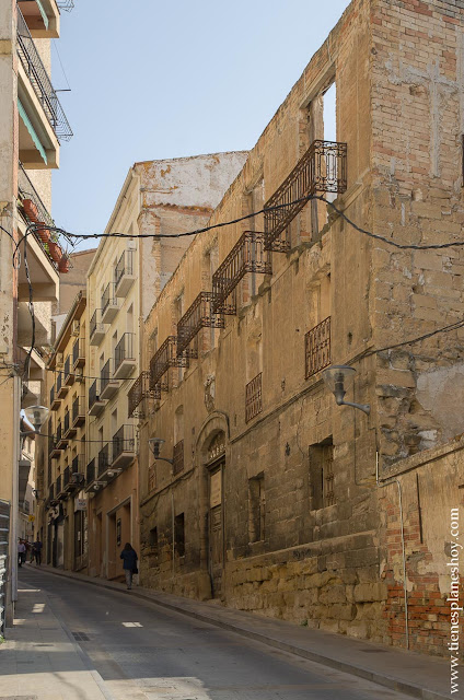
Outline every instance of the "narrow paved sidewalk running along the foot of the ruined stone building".
<path fill-rule="evenodd" d="M 459 696 L 451 696 L 450 664 L 445 660 L 302 628 L 291 622 L 224 608 L 214 603 L 199 603 L 140 586 L 128 592 L 121 583 L 59 571 L 47 565 L 40 567 L 40 570 L 150 600 L 171 610 L 183 612 L 204 622 L 216 625 L 332 668 L 360 676 L 415 698 L 442 700 L 443 698 L 464 697 L 462 690 Z M 461 679 L 461 685 L 464 685 L 464 678 Z"/>

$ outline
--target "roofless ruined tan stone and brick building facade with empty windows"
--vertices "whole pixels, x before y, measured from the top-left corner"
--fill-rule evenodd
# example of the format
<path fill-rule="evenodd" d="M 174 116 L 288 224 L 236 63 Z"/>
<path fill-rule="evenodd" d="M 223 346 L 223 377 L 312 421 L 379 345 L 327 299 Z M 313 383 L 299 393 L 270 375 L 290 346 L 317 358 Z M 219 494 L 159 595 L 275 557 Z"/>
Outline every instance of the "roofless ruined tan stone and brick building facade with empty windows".
<path fill-rule="evenodd" d="M 353 0 L 210 224 L 268 213 L 198 235 L 150 311 L 128 395 L 143 585 L 445 652 L 432 524 L 462 509 L 441 445 L 463 430 L 464 329 L 408 341 L 462 319 L 462 248 L 419 249 L 462 241 L 457 5 Z M 330 364 L 370 415 L 336 405 Z"/>

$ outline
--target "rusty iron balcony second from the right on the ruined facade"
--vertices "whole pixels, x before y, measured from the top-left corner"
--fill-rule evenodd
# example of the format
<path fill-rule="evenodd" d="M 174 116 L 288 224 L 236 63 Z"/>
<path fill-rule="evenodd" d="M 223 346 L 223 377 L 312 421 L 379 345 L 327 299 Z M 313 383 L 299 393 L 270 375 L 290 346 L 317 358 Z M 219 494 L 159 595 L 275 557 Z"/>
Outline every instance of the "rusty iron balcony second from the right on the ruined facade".
<path fill-rule="evenodd" d="M 256 231 L 245 231 L 223 262 L 212 276 L 212 311 L 216 314 L 235 314 L 232 293 L 247 272 L 271 275 L 270 252 L 266 249 L 266 236 Z"/>

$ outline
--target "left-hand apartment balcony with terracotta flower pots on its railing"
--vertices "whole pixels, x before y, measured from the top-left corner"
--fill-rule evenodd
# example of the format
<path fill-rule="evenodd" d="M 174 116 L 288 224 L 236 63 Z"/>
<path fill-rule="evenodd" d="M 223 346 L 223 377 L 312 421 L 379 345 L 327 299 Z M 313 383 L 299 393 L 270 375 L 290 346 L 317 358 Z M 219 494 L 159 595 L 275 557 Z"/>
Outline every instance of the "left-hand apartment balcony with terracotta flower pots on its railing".
<path fill-rule="evenodd" d="M 40 225 L 37 232 L 27 237 L 27 265 L 34 285 L 34 301 L 57 302 L 59 298 L 58 266 L 46 245 L 49 237 L 46 226 L 54 226 L 55 222 L 21 163 L 18 170 L 18 190 L 20 235 L 24 236 L 26 226 L 31 223 Z M 19 270 L 18 283 L 19 301 L 28 302 L 30 289 L 23 265 Z"/>

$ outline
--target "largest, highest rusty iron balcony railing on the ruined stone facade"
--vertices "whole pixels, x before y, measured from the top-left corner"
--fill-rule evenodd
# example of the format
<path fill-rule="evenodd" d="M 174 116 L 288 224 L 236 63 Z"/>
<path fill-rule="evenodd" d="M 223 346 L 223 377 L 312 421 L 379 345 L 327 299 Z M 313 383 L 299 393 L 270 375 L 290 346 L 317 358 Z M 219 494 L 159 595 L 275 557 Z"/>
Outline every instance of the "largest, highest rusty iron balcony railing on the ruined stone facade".
<path fill-rule="evenodd" d="M 289 243 L 280 238 L 308 198 L 316 192 L 344 192 L 347 188 L 347 144 L 313 141 L 290 175 L 267 200 L 264 208 L 266 247 L 286 250 Z"/>

